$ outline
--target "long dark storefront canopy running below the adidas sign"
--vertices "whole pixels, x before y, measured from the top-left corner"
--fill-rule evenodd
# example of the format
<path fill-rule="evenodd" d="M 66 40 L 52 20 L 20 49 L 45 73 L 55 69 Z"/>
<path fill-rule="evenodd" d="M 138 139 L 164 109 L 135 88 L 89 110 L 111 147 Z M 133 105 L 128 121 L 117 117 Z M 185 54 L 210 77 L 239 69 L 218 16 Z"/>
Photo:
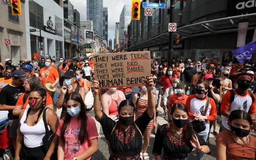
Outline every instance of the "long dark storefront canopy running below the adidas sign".
<path fill-rule="evenodd" d="M 177 28 L 177 32 L 183 35 L 182 39 L 199 37 L 199 36 L 207 36 L 212 34 L 221 34 L 221 33 L 229 33 L 229 32 L 237 32 L 239 21 L 241 19 L 248 19 L 249 27 L 248 30 L 254 30 L 256 27 L 256 13 L 240 15 L 240 16 L 231 16 L 225 17 L 210 21 L 203 21 L 194 23 L 191 25 L 183 26 Z M 163 44 L 169 42 L 169 32 L 166 31 L 147 39 L 143 42 L 137 43 L 136 47 L 131 46 L 130 50 L 134 48 L 148 48 L 151 47 L 152 44 Z"/>

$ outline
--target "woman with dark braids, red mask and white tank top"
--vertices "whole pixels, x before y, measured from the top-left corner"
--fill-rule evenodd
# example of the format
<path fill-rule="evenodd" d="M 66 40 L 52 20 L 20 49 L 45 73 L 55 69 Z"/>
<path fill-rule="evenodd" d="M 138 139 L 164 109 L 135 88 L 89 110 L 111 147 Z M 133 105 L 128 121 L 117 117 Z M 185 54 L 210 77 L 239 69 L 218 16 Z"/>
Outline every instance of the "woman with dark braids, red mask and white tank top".
<path fill-rule="evenodd" d="M 35 88 L 29 93 L 29 108 L 22 111 L 16 142 L 14 160 L 43 160 L 50 159 L 58 143 L 56 131 L 59 125 L 58 117 L 52 109 L 45 107 L 46 90 Z M 53 141 L 48 150 L 43 148 L 45 127 L 43 111 L 46 110 L 46 122 L 49 131 L 53 133 Z"/>

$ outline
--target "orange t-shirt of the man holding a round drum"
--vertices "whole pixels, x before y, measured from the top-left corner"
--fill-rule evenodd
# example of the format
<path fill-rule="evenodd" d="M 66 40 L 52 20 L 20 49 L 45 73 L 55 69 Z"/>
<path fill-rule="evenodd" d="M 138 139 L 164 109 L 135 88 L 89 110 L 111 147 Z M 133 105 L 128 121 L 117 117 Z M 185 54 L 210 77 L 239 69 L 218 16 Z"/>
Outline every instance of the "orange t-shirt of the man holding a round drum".
<path fill-rule="evenodd" d="M 48 69 L 42 68 L 39 71 L 39 77 L 42 78 L 42 85 L 44 87 L 44 84 L 48 81 L 54 83 L 56 78 L 59 78 L 59 72 L 53 67 L 48 67 Z"/>

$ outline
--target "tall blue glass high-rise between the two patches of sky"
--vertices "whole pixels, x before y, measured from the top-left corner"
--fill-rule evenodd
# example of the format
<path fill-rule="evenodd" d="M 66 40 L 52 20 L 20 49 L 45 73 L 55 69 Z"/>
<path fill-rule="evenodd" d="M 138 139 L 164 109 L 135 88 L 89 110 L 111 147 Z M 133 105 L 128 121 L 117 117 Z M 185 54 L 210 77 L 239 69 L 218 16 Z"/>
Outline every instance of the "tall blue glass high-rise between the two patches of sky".
<path fill-rule="evenodd" d="M 86 19 L 93 22 L 96 39 L 103 40 L 103 0 L 86 0 Z"/>

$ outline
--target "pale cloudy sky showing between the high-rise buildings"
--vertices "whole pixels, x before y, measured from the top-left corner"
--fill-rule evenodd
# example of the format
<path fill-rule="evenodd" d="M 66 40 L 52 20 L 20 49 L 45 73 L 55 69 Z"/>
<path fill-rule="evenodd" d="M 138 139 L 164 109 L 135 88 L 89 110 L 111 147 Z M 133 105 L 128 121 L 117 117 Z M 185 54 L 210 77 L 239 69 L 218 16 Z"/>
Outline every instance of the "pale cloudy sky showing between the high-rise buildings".
<path fill-rule="evenodd" d="M 74 5 L 74 9 L 80 12 L 80 21 L 86 21 L 86 0 L 69 1 Z M 130 4 L 130 0 L 103 0 L 103 7 L 108 8 L 108 39 L 112 39 L 112 44 L 115 38 L 115 25 L 119 22 L 119 16 L 125 4 Z"/>

